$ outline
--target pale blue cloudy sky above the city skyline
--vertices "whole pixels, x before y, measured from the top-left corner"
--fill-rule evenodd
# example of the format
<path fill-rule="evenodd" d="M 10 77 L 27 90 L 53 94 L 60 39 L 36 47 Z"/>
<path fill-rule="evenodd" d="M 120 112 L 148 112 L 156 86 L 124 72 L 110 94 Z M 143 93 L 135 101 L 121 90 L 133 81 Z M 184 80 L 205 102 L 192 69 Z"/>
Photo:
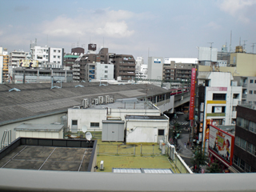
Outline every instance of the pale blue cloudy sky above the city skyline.
<path fill-rule="evenodd" d="M 110 53 L 198 58 L 197 46 L 221 50 L 256 42 L 255 0 L 0 0 L 0 46 L 29 51 L 96 43 Z M 256 45 L 254 53 L 256 52 Z"/>

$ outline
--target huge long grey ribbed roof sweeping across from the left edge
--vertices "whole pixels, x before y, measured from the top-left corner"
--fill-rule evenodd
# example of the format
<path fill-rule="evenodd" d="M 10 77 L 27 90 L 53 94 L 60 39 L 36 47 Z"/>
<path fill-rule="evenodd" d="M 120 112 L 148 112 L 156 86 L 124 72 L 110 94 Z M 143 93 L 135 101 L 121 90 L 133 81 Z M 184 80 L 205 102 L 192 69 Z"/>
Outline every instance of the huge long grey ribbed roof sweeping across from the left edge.
<path fill-rule="evenodd" d="M 56 83 L 60 86 L 60 83 Z M 55 85 L 55 83 L 54 83 Z M 84 87 L 75 87 L 82 85 Z M 161 87 L 150 84 L 99 86 L 99 82 L 62 83 L 62 89 L 50 89 L 50 83 L 1 84 L 0 126 L 30 118 L 66 112 L 68 108 L 80 106 L 84 98 L 144 98 L 168 93 Z M 17 88 L 21 91 L 9 90 Z"/>

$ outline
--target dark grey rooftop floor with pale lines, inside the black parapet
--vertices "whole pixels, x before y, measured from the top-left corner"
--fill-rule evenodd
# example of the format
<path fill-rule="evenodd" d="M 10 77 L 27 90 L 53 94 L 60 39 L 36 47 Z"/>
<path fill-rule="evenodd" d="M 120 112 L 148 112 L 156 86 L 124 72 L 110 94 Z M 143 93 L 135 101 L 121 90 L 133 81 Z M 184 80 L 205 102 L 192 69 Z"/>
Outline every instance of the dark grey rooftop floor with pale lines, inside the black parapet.
<path fill-rule="evenodd" d="M 91 148 L 18 146 L 0 160 L 1 168 L 86 171 Z"/>

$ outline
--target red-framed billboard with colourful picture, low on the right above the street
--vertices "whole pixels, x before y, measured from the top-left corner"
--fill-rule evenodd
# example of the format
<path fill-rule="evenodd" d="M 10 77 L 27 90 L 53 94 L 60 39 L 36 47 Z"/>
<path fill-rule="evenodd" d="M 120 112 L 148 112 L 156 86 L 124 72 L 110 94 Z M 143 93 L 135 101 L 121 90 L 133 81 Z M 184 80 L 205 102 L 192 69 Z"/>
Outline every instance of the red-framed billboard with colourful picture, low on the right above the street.
<path fill-rule="evenodd" d="M 218 129 L 216 126 L 209 127 L 209 150 L 217 154 L 218 157 L 232 165 L 233 150 L 234 150 L 234 136 L 226 133 L 224 130 Z"/>

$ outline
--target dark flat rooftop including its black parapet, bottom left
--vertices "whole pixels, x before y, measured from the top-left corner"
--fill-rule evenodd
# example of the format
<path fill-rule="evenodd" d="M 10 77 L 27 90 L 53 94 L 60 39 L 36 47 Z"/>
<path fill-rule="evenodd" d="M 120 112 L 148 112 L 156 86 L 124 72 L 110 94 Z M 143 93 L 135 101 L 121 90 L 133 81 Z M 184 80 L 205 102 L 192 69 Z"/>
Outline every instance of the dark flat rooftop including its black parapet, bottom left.
<path fill-rule="evenodd" d="M 90 171 L 94 152 L 94 141 L 18 138 L 0 151 L 0 170 Z"/>

